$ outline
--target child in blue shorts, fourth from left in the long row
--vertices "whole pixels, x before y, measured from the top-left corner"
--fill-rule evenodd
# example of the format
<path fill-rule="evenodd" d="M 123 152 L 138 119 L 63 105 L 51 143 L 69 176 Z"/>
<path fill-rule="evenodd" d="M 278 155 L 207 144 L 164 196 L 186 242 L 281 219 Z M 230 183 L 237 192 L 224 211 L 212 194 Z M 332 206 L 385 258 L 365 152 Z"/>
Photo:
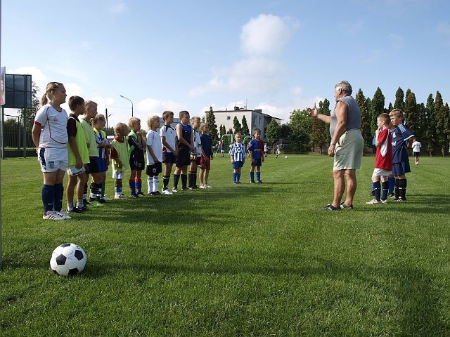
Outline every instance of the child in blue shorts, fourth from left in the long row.
<path fill-rule="evenodd" d="M 101 192 L 100 199 L 105 200 L 105 183 L 106 171 L 108 171 L 108 159 L 110 143 L 106 139 L 106 133 L 102 130 L 105 127 L 105 116 L 103 114 L 96 114 L 96 117 L 91 119 L 92 126 L 94 126 L 94 135 L 98 147 L 98 168 L 100 171 Z"/>

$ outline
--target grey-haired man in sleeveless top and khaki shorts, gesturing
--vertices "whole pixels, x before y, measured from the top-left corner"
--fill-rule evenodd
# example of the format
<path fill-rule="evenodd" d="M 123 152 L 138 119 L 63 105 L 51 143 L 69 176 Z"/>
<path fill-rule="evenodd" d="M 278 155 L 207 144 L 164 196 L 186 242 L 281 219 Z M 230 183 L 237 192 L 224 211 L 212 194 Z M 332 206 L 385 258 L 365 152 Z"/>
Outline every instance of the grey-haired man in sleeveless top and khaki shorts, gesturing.
<path fill-rule="evenodd" d="M 308 109 L 311 117 L 330 124 L 330 147 L 328 155 L 334 157 L 333 202 L 325 206 L 325 211 L 353 209 L 353 198 L 356 192 L 356 170 L 361 168 L 364 139 L 361 136 L 361 112 L 358 103 L 352 97 L 352 86 L 347 81 L 335 85 L 335 109 L 330 116 L 320 114 L 314 108 Z M 346 184 L 347 182 L 347 184 Z M 340 202 L 347 185 L 347 197 Z"/>

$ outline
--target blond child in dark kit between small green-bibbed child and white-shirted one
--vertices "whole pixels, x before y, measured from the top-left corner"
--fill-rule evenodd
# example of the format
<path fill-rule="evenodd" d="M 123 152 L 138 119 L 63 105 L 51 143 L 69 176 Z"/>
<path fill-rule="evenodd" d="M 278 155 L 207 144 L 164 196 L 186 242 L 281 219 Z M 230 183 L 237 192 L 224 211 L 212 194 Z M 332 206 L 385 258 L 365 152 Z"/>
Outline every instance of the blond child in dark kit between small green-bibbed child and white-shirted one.
<path fill-rule="evenodd" d="M 141 119 L 131 117 L 128 121 L 130 128 L 128 134 L 129 145 L 129 168 L 131 175 L 129 178 L 129 192 L 131 198 L 138 198 L 144 195 L 142 192 L 142 170 L 145 163 L 144 150 L 146 148 L 146 140 L 143 139 L 141 133 Z"/>

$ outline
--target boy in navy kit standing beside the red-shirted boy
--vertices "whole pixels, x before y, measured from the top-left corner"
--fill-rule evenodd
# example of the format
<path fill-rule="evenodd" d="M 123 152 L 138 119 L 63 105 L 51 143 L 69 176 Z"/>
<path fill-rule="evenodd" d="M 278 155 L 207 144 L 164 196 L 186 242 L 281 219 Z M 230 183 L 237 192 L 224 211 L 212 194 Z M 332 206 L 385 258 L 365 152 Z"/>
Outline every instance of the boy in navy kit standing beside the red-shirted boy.
<path fill-rule="evenodd" d="M 395 195 L 397 201 L 406 201 L 406 173 L 409 167 L 408 147 L 412 143 L 413 133 L 403 124 L 403 111 L 394 109 L 390 112 L 392 130 L 392 173 L 395 176 Z"/>

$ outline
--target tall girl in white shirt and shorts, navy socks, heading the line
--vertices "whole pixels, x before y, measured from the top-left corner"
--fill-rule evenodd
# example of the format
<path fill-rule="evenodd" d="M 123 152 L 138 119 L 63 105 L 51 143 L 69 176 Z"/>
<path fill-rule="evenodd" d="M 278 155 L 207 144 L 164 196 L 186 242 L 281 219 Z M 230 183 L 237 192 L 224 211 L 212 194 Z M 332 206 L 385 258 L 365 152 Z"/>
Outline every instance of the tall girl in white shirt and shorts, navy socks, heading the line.
<path fill-rule="evenodd" d="M 44 180 L 41 190 L 44 204 L 42 218 L 46 220 L 70 219 L 63 212 L 63 179 L 68 167 L 68 114 L 60 105 L 65 103 L 66 97 L 62 83 L 47 84 L 32 128 Z"/>

